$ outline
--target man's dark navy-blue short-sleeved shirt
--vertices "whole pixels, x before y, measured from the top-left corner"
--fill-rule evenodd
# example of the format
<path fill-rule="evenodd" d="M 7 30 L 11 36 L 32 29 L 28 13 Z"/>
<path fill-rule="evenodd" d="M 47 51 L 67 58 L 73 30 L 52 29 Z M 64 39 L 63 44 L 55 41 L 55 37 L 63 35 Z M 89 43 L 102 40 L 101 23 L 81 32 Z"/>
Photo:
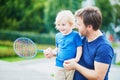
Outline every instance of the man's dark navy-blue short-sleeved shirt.
<path fill-rule="evenodd" d="M 92 42 L 88 42 L 86 38 L 83 38 L 83 53 L 80 61 L 80 65 L 88 68 L 94 69 L 94 61 L 109 64 L 109 69 L 111 66 L 112 57 L 114 51 L 104 35 L 98 37 Z M 108 72 L 104 80 L 108 80 Z M 76 71 L 73 80 L 87 80 L 80 72 Z"/>

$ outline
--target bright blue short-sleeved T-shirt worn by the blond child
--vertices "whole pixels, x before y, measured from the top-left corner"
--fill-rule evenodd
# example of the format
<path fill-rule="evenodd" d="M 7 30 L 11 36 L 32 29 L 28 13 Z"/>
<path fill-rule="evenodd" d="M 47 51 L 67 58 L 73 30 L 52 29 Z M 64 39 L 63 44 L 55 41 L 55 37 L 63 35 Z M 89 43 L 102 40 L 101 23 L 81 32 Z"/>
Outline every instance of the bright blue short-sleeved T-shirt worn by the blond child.
<path fill-rule="evenodd" d="M 64 60 L 76 57 L 77 47 L 82 45 L 82 40 L 78 32 L 72 31 L 68 35 L 56 34 L 56 46 L 58 48 L 56 56 L 56 66 L 63 67 Z"/>

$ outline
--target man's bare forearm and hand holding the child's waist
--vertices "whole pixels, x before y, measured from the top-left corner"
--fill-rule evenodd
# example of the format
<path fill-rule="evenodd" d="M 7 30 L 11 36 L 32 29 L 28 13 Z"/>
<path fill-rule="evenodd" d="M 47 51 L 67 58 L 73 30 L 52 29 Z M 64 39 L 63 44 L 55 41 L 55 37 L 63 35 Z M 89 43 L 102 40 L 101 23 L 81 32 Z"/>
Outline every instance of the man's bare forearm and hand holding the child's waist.
<path fill-rule="evenodd" d="M 88 69 L 76 63 L 75 61 L 65 61 L 64 67 L 68 70 L 76 69 L 88 80 L 104 80 L 109 64 L 94 62 L 95 69 Z"/>

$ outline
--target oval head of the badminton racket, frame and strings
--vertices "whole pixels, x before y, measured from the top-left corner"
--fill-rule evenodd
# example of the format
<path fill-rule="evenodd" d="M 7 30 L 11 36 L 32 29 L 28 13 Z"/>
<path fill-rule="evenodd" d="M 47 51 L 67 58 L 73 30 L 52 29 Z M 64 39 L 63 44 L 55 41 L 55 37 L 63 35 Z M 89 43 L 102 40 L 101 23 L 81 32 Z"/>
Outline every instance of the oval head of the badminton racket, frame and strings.
<path fill-rule="evenodd" d="M 22 58 L 33 58 L 37 55 L 35 43 L 26 37 L 17 38 L 13 44 L 15 53 Z"/>

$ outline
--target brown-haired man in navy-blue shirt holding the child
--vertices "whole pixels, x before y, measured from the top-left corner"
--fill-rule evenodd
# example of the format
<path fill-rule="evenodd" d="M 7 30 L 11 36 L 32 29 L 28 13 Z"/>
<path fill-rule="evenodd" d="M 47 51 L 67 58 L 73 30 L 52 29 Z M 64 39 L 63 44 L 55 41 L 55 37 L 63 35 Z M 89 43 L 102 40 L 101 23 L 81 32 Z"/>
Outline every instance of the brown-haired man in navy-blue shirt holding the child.
<path fill-rule="evenodd" d="M 75 69 L 73 80 L 108 80 L 113 49 L 100 31 L 102 15 L 97 7 L 85 7 L 75 13 L 76 24 L 83 38 L 83 54 L 78 63 L 64 62 L 67 70 Z"/>

